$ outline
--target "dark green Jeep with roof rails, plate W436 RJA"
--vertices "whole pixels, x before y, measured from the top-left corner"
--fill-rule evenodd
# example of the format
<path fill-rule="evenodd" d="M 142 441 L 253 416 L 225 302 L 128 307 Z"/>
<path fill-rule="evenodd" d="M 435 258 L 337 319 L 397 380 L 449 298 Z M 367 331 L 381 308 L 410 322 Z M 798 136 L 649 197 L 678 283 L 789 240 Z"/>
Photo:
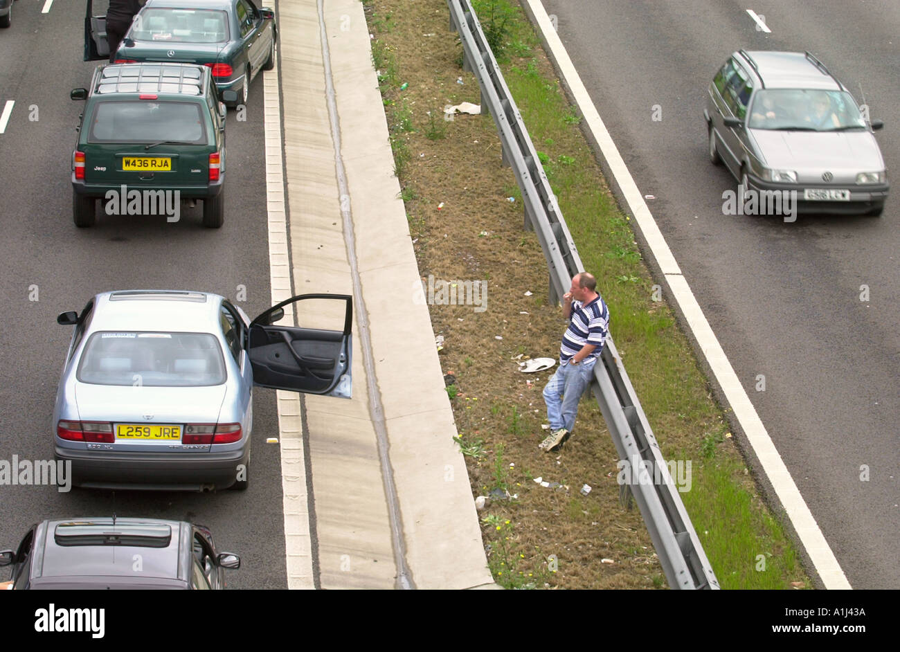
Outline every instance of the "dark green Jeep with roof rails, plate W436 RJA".
<path fill-rule="evenodd" d="M 76 226 L 94 225 L 98 199 L 107 214 L 167 209 L 168 221 L 199 199 L 203 226 L 222 225 L 225 104 L 209 67 L 100 66 L 71 97 L 87 101 L 72 154 Z"/>

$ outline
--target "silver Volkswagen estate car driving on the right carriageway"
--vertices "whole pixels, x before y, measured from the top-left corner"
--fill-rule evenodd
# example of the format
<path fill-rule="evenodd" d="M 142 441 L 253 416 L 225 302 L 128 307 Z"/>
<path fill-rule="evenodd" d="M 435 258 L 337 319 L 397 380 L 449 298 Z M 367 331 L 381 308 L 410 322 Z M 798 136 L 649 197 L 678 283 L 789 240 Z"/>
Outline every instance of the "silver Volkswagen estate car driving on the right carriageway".
<path fill-rule="evenodd" d="M 709 85 L 709 156 L 749 190 L 797 192 L 800 210 L 880 215 L 887 166 L 867 115 L 809 52 L 734 52 Z"/>

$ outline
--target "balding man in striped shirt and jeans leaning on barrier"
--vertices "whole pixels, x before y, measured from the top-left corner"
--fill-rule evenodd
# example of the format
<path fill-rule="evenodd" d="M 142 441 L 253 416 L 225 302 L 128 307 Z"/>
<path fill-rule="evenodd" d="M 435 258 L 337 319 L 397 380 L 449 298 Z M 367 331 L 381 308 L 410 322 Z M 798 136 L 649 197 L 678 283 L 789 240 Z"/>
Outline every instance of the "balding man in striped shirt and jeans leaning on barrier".
<path fill-rule="evenodd" d="M 570 321 L 560 347 L 560 366 L 544 388 L 550 434 L 538 448 L 545 452 L 559 448 L 572 434 L 578 402 L 590 385 L 609 332 L 609 309 L 597 293 L 597 279 L 588 272 L 572 278 L 572 288 L 563 295 L 563 314 Z"/>

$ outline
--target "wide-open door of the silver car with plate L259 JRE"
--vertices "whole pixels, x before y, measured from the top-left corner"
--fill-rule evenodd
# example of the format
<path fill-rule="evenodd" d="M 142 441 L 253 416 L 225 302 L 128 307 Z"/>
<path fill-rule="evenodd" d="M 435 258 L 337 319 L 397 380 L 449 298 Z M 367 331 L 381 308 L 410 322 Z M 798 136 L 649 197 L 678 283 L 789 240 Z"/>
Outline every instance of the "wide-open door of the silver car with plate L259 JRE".
<path fill-rule="evenodd" d="M 284 306 L 305 299 L 345 301 L 343 331 L 272 326 L 284 316 Z M 259 387 L 350 398 L 352 324 L 353 297 L 347 294 L 302 294 L 269 308 L 250 322 L 247 329 L 253 383 Z"/>

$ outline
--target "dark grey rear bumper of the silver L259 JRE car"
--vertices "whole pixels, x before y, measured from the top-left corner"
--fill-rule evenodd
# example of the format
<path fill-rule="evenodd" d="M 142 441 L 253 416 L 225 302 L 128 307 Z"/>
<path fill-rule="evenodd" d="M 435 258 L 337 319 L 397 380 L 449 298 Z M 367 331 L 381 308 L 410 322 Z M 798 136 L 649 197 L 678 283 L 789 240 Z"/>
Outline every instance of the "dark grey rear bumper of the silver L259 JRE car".
<path fill-rule="evenodd" d="M 78 451 L 57 444 L 54 456 L 72 463 L 72 484 L 76 487 L 204 491 L 233 485 L 238 465 L 247 465 L 249 451 Z"/>

